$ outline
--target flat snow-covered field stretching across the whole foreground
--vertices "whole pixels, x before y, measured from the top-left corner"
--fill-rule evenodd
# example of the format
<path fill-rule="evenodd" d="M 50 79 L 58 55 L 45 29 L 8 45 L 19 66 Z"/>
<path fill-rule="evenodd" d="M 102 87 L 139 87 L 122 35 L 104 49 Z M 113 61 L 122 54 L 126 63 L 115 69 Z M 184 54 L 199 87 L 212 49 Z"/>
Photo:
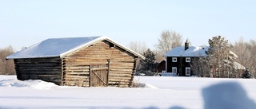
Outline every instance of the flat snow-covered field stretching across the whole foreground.
<path fill-rule="evenodd" d="M 63 87 L 42 80 L 0 76 L 0 109 L 256 108 L 256 80 L 164 76 L 136 76 L 135 80 L 146 88 Z M 226 82 L 241 84 L 246 92 L 238 84 L 212 86 Z"/>

